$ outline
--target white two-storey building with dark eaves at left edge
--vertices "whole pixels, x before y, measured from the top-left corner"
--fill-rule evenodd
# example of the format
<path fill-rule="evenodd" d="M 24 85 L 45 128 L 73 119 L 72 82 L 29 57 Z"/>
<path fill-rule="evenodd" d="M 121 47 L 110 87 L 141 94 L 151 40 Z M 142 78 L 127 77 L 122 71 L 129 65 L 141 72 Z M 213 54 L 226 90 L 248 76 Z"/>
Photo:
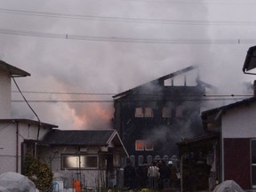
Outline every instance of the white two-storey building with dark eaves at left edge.
<path fill-rule="evenodd" d="M 0 174 L 21 172 L 23 157 L 28 153 L 36 156 L 37 140 L 58 127 L 30 119 L 12 118 L 12 78 L 25 76 L 30 74 L 0 60 Z"/>

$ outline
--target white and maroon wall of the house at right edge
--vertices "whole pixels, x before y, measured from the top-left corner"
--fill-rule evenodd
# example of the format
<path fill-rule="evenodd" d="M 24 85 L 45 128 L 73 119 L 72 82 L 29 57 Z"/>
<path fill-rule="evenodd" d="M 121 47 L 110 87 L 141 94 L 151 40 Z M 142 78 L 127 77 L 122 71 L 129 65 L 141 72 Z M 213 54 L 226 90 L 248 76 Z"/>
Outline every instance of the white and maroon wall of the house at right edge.
<path fill-rule="evenodd" d="M 256 104 L 229 109 L 221 119 L 222 180 L 252 188 L 251 139 L 256 138 Z"/>

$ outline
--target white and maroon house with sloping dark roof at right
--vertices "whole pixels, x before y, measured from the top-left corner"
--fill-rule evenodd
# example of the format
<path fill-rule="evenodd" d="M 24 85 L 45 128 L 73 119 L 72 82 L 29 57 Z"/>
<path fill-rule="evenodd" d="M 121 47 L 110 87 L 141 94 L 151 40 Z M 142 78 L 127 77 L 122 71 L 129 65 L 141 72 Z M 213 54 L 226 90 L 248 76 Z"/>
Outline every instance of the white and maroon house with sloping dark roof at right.
<path fill-rule="evenodd" d="M 202 113 L 204 130 L 220 133 L 220 182 L 256 188 L 256 98 Z M 218 171 L 218 170 L 217 170 Z"/>

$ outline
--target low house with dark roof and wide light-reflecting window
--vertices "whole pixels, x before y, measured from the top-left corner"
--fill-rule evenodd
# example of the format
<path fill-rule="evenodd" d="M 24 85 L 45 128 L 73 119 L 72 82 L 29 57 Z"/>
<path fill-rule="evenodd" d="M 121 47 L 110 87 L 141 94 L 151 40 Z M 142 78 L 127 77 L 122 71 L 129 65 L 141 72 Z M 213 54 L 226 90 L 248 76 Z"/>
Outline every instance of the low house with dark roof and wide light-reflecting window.
<path fill-rule="evenodd" d="M 64 188 L 122 185 L 121 158 L 128 156 L 116 130 L 52 130 L 40 143 L 39 158 L 63 175 Z"/>

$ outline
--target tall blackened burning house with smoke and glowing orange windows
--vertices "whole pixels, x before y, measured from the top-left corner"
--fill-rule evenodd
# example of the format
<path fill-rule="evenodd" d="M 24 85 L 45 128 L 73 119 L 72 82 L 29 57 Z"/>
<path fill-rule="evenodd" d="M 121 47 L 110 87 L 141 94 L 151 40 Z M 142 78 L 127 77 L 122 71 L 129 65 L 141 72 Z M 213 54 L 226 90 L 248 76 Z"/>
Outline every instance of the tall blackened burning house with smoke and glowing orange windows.
<path fill-rule="evenodd" d="M 200 108 L 205 84 L 192 73 L 195 69 L 183 68 L 113 96 L 114 128 L 134 165 L 177 156 L 178 141 L 203 132 Z M 188 82 L 191 74 L 194 84 Z M 175 84 L 178 76 L 183 84 Z"/>

